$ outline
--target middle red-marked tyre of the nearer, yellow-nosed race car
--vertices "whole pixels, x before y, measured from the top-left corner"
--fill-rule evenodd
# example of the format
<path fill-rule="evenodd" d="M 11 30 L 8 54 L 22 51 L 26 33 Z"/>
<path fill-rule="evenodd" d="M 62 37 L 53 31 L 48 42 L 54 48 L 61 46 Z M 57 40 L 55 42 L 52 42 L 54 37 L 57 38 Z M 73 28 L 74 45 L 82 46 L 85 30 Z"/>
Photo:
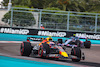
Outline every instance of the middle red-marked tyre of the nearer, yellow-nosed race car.
<path fill-rule="evenodd" d="M 40 57 L 42 58 L 46 58 L 46 55 L 50 53 L 50 47 L 48 44 L 43 43 L 38 51 L 38 54 L 40 55 Z"/>

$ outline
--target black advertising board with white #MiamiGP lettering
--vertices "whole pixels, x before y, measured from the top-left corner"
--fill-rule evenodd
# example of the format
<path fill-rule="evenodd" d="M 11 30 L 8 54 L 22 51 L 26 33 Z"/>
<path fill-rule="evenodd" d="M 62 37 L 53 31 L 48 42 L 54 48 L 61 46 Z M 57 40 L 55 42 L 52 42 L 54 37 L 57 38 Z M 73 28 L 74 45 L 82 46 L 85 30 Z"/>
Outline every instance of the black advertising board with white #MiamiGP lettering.
<path fill-rule="evenodd" d="M 38 35 L 38 36 L 53 36 L 53 37 L 67 37 L 67 38 L 74 35 L 74 36 L 77 36 L 79 38 L 88 38 L 88 39 L 100 40 L 100 33 L 85 33 L 85 32 L 46 30 L 46 29 L 0 27 L 0 33 L 22 34 L 22 35 Z"/>

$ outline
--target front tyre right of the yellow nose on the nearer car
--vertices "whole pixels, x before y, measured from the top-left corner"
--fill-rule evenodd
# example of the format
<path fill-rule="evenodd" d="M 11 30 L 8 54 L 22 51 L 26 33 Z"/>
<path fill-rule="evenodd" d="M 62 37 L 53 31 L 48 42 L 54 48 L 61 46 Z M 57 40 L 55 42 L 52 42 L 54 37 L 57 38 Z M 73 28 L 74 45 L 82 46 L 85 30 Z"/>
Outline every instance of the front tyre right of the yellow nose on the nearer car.
<path fill-rule="evenodd" d="M 79 62 L 81 60 L 81 49 L 79 47 L 72 48 L 71 55 L 77 57 L 77 58 L 72 58 L 72 61 Z"/>

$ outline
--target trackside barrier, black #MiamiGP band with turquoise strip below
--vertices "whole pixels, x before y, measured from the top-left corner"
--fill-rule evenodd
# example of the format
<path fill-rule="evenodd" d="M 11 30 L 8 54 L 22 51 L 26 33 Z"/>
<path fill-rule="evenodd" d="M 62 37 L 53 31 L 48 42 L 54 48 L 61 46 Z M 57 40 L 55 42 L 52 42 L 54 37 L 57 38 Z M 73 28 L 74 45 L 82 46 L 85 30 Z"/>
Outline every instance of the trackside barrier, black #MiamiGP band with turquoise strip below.
<path fill-rule="evenodd" d="M 58 31 L 58 30 L 44 30 L 44 29 L 28 29 L 28 28 L 10 28 L 10 27 L 0 27 L 0 41 L 26 41 L 27 37 L 40 37 L 46 38 L 49 35 L 52 36 L 54 41 L 62 38 L 63 41 L 70 36 L 80 36 L 85 38 L 90 37 L 92 44 L 100 44 L 99 33 L 83 33 L 83 32 L 69 32 L 69 31 Z M 85 39 L 80 39 L 85 41 Z"/>

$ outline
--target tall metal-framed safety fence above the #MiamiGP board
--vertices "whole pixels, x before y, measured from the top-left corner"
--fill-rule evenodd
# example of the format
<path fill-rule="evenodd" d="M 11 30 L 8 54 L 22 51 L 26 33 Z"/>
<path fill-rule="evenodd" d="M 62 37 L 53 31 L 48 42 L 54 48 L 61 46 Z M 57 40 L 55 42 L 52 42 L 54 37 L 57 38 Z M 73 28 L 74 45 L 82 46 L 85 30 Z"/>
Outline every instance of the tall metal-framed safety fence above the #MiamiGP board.
<path fill-rule="evenodd" d="M 9 27 L 100 33 L 100 14 L 12 7 L 4 18 Z"/>

